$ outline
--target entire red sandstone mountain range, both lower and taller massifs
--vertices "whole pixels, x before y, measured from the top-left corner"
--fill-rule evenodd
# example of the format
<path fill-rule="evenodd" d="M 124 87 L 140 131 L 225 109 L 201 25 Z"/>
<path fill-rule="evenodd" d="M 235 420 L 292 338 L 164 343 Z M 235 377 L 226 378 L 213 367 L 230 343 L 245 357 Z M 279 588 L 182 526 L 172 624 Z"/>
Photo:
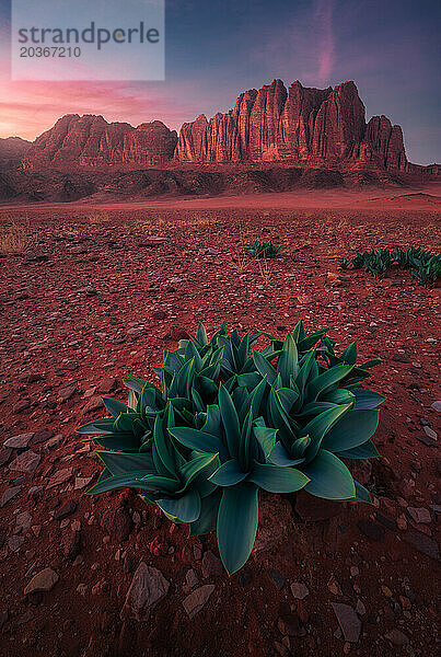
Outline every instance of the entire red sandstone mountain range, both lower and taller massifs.
<path fill-rule="evenodd" d="M 155 120 L 134 128 L 102 116 L 67 115 L 40 135 L 23 169 L 148 169 L 179 163 L 285 162 L 294 166 L 410 171 L 399 126 L 364 118 L 353 82 L 287 90 L 275 80 L 242 93 L 233 110 L 182 126 L 179 137 Z M 422 171 L 422 169 L 421 169 Z"/>

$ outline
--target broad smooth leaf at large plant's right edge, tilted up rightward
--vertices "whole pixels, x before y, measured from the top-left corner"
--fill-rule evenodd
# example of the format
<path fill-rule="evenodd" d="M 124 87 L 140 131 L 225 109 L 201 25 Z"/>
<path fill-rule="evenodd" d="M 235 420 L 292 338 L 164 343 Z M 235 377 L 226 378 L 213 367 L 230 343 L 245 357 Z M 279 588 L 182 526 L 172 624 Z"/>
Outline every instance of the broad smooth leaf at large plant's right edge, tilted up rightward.
<path fill-rule="evenodd" d="M 379 411 L 363 410 L 347 413 L 323 438 L 322 449 L 341 452 L 363 445 L 376 430 Z"/>

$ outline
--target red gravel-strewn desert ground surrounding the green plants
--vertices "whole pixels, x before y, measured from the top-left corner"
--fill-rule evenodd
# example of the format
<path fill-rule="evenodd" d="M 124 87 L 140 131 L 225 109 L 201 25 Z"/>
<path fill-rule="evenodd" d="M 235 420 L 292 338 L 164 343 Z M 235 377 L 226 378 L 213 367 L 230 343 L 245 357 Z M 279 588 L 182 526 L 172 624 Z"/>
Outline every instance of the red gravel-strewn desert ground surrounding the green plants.
<path fill-rule="evenodd" d="M 440 212 L 15 208 L 0 210 L 3 246 L 12 222 L 19 253 L 0 257 L 0 653 L 438 654 L 440 289 L 337 261 L 439 251 Z M 246 257 L 255 239 L 280 257 Z M 360 360 L 383 359 L 369 387 L 387 395 L 382 458 L 358 473 L 374 506 L 268 495 L 233 577 L 216 537 L 188 538 L 134 491 L 84 496 L 101 466 L 74 434 L 104 415 L 101 395 L 124 399 L 125 373 L 154 380 L 185 330 L 223 319 L 280 336 L 300 319 L 329 326 L 339 349 L 357 341 Z"/>

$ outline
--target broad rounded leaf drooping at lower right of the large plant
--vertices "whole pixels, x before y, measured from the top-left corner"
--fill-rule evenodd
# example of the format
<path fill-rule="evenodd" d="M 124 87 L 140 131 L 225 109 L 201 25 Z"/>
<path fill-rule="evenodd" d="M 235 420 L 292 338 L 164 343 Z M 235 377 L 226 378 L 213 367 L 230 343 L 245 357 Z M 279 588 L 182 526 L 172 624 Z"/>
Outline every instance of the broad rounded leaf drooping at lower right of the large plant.
<path fill-rule="evenodd" d="M 351 499 L 356 496 L 356 485 L 345 463 L 336 456 L 321 449 L 316 458 L 301 471 L 311 479 L 305 491 L 325 499 Z"/>

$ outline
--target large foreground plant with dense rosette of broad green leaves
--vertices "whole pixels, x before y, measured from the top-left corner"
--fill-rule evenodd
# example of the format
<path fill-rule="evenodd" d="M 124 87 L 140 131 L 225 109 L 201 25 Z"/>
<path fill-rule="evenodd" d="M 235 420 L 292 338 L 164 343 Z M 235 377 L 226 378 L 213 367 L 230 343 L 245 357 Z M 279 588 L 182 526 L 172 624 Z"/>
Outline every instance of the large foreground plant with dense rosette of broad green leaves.
<path fill-rule="evenodd" d="M 111 416 L 78 429 L 102 448 L 89 494 L 136 488 L 192 533 L 217 528 L 229 573 L 252 551 L 259 489 L 370 502 L 345 462 L 378 457 L 384 396 L 361 383 L 379 361 L 358 367 L 356 343 L 337 356 L 326 333 L 241 338 L 223 322 L 209 339 L 199 325 L 154 368 L 160 388 L 128 377 L 128 403 L 105 397 Z"/>

